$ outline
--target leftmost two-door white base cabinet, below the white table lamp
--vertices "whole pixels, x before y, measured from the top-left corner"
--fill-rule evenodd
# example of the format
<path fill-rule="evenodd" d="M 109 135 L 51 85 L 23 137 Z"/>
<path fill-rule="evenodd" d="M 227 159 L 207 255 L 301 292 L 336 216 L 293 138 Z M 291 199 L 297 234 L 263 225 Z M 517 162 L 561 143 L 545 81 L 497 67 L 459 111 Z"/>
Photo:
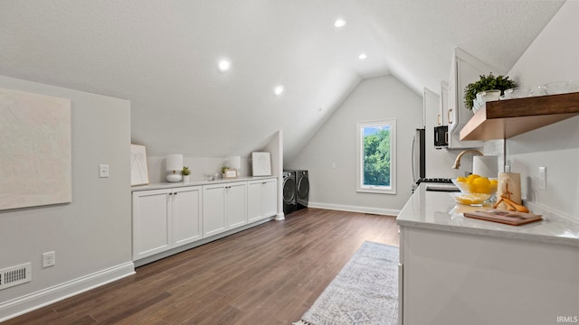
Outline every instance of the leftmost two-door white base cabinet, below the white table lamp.
<path fill-rule="evenodd" d="M 201 238 L 201 189 L 133 192 L 133 260 Z"/>

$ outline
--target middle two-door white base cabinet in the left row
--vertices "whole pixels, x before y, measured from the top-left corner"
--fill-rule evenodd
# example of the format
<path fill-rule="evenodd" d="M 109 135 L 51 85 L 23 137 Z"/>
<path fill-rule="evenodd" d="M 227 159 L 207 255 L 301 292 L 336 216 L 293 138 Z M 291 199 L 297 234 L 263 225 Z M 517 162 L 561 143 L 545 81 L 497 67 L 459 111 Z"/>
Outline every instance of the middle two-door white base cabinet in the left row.
<path fill-rule="evenodd" d="M 247 182 L 203 186 L 204 237 L 247 224 Z"/>

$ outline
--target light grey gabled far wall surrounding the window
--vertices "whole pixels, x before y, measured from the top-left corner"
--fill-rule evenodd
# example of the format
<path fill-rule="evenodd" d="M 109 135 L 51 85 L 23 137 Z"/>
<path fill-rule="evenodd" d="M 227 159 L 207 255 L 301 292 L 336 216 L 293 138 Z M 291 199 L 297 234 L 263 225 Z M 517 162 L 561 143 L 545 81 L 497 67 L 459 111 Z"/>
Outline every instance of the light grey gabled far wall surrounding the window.
<path fill-rule="evenodd" d="M 356 192 L 356 122 L 396 118 L 397 194 Z M 309 206 L 397 214 L 410 198 L 422 97 L 392 76 L 364 79 L 285 169 L 309 171 Z M 332 168 L 332 164 L 336 168 Z"/>

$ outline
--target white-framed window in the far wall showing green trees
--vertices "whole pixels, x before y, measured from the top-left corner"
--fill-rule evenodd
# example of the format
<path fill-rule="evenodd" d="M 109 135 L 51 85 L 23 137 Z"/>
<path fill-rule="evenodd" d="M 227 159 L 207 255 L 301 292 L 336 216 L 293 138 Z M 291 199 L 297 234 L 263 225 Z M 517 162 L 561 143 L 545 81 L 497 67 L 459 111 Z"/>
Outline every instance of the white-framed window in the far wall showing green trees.
<path fill-rule="evenodd" d="M 396 120 L 357 123 L 357 191 L 396 194 Z"/>

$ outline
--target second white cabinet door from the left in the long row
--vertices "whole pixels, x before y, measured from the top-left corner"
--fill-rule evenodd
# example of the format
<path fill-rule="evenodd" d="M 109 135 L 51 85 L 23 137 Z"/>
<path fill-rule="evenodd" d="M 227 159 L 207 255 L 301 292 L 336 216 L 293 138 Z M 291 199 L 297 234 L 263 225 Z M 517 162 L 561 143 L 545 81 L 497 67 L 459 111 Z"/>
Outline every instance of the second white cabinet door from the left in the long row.
<path fill-rule="evenodd" d="M 181 246 L 201 239 L 201 186 L 174 189 L 173 204 L 173 245 Z"/>

